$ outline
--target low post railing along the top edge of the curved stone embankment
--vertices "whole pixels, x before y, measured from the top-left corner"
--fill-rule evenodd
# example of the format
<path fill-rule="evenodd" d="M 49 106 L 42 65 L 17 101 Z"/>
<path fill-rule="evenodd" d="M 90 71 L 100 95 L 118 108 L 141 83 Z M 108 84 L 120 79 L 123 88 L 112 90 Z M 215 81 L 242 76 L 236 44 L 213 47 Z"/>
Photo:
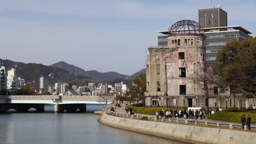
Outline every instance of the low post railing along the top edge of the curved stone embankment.
<path fill-rule="evenodd" d="M 226 124 L 226 123 L 214 123 L 214 122 L 201 122 L 197 121 L 195 119 L 189 119 L 189 118 L 184 118 L 184 119 L 177 119 L 177 118 L 159 118 L 157 119 L 156 117 L 150 117 L 150 116 L 143 116 L 143 115 L 130 115 L 127 113 L 118 113 L 118 112 L 113 112 L 110 111 L 113 115 L 116 116 L 123 116 L 123 117 L 130 117 L 130 118 L 142 118 L 142 117 L 147 117 L 149 120 L 153 119 L 154 121 L 158 122 L 176 122 L 176 123 L 184 123 L 184 124 L 196 124 L 196 125 L 213 125 L 216 127 L 229 127 L 230 129 L 232 128 L 242 128 L 242 125 L 235 125 L 232 123 Z M 256 127 L 250 127 L 251 129 L 256 129 Z M 244 129 L 248 129 L 248 126 L 245 125 Z"/>

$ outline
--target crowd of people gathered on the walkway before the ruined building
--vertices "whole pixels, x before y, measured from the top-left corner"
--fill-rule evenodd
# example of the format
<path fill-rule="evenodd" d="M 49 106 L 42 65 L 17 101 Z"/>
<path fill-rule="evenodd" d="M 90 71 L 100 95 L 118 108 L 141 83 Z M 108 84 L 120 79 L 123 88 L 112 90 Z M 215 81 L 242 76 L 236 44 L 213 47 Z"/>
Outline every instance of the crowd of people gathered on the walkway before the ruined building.
<path fill-rule="evenodd" d="M 156 118 L 159 119 L 159 116 L 161 118 L 190 118 L 190 119 L 202 119 L 205 118 L 205 110 L 200 109 L 200 110 L 179 110 L 177 109 L 170 109 L 169 111 L 166 109 L 165 111 L 162 109 L 161 111 L 156 110 L 155 112 Z"/>

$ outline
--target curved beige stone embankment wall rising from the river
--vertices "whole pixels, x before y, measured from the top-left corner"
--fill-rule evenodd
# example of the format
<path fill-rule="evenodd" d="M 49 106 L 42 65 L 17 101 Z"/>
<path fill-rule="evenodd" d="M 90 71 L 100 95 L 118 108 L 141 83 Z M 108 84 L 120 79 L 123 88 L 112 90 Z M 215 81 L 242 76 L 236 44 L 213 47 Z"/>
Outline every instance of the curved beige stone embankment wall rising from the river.
<path fill-rule="evenodd" d="M 110 127 L 189 143 L 256 143 L 256 133 L 246 131 L 142 121 L 138 119 L 112 116 L 106 113 L 102 114 L 99 121 Z"/>

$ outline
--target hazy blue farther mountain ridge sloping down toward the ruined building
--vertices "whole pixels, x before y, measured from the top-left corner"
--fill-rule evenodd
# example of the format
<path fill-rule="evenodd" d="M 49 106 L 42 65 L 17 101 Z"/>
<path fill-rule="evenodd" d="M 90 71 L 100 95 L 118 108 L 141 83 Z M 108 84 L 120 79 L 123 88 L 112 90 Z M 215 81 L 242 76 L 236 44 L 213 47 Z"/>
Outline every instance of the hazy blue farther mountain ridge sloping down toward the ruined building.
<path fill-rule="evenodd" d="M 65 70 L 69 71 L 69 73 L 71 73 L 71 74 L 77 73 L 77 75 L 87 76 L 87 77 L 90 77 L 91 79 L 100 79 L 100 80 L 133 79 L 134 77 L 139 76 L 140 74 L 146 72 L 146 69 L 142 69 L 131 76 L 119 74 L 114 71 L 109 71 L 107 73 L 100 73 L 96 70 L 85 71 L 82 68 L 76 67 L 75 65 L 68 64 L 63 61 L 52 64 L 50 66 L 55 67 L 55 68 L 65 69 Z"/>

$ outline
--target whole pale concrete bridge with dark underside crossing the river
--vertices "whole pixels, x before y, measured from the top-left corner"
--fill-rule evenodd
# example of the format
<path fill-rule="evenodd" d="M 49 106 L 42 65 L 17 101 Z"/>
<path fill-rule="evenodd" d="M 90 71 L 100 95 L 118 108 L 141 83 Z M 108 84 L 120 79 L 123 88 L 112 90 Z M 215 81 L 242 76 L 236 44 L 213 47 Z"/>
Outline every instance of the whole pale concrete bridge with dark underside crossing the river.
<path fill-rule="evenodd" d="M 53 104 L 55 112 L 75 112 L 79 109 L 86 111 L 86 104 L 110 104 L 114 96 L 60 96 L 60 95 L 10 95 L 0 96 L 0 112 L 14 109 L 18 112 L 26 112 L 34 108 L 39 112 L 44 111 L 45 104 Z"/>

